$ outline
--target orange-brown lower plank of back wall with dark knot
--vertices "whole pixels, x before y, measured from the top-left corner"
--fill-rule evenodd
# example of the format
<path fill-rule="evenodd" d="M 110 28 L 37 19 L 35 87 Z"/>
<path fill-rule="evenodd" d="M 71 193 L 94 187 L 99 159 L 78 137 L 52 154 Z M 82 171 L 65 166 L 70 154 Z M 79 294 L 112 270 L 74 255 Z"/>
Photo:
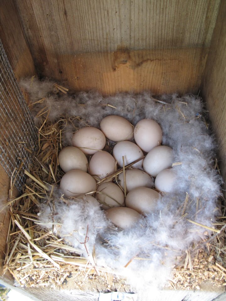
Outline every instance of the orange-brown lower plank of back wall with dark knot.
<path fill-rule="evenodd" d="M 175 50 L 173 56 L 171 50 L 164 50 L 163 59 L 161 55 L 159 50 L 83 53 L 76 58 L 58 55 L 63 74 L 67 74 L 68 68 L 73 69 L 73 73 L 62 79 L 62 74 L 57 72 L 54 78 L 77 91 L 97 89 L 103 94 L 143 90 L 156 94 L 199 91 L 200 74 L 206 62 L 202 49 Z M 51 77 L 53 68 L 46 70 L 46 76 Z M 166 75 L 167 70 L 171 70 L 170 77 Z"/>

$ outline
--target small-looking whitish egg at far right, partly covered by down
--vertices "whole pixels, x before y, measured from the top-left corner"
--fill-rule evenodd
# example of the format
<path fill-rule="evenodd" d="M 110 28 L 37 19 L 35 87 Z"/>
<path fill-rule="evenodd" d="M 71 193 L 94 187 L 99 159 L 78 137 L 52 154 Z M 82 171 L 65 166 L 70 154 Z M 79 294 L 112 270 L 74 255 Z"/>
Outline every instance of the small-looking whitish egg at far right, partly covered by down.
<path fill-rule="evenodd" d="M 164 169 L 155 178 L 155 188 L 163 192 L 171 192 L 175 181 L 175 172 L 172 169 Z"/>

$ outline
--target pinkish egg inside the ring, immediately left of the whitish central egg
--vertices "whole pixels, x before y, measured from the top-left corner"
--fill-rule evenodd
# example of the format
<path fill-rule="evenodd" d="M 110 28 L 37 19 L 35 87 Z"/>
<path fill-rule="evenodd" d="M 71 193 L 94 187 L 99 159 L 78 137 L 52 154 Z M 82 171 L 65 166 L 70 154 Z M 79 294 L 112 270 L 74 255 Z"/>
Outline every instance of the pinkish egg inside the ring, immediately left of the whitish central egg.
<path fill-rule="evenodd" d="M 115 172 L 116 161 L 107 151 L 97 151 L 89 161 L 89 173 L 99 179 Z"/>

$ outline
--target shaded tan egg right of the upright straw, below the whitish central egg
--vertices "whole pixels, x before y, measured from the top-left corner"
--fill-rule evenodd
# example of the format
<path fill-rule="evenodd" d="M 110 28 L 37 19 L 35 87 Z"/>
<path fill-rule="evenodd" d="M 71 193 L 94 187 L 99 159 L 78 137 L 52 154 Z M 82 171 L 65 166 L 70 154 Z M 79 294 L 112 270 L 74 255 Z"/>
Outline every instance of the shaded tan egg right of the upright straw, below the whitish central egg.
<path fill-rule="evenodd" d="M 153 187 L 152 178 L 140 169 L 127 169 L 126 177 L 126 193 L 137 187 Z M 119 185 L 124 189 L 124 175 L 121 172 L 118 176 Z"/>

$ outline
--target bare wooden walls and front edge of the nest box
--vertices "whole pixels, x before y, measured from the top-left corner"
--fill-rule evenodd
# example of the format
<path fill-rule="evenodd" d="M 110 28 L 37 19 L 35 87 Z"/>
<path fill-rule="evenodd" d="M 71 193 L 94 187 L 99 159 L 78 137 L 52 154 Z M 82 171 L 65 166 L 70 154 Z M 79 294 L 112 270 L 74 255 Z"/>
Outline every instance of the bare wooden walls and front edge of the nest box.
<path fill-rule="evenodd" d="M 226 179 L 225 0 L 2 0 L 0 39 L 17 81 L 51 77 L 71 90 L 103 95 L 145 90 L 201 95 Z M 0 187 L 1 202 L 7 202 L 10 177 L 2 165 Z M 0 263 L 9 219 L 0 213 Z M 7 274 L 3 281 L 13 283 Z M 211 283 L 198 289 L 192 296 L 165 291 L 162 298 L 211 301 L 224 292 Z M 42 300 L 72 300 L 44 288 L 28 291 Z M 96 293 L 80 297 L 97 300 Z"/>

